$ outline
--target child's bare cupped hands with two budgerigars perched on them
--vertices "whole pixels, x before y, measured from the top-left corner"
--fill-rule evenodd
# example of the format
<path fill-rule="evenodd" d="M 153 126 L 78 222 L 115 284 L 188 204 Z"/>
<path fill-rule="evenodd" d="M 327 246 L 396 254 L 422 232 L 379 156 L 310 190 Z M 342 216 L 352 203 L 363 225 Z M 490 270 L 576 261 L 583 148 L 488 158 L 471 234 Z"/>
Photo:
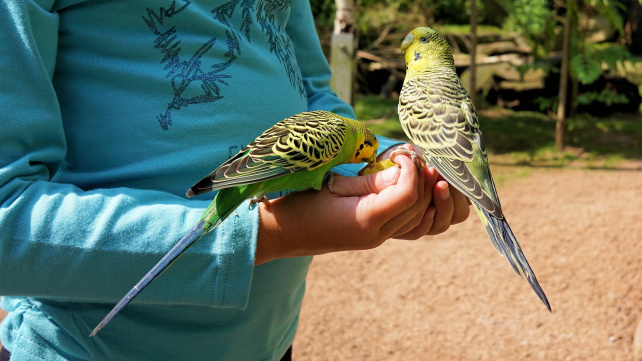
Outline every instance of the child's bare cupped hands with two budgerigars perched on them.
<path fill-rule="evenodd" d="M 261 204 L 256 264 L 417 239 L 466 219 L 465 198 L 451 194 L 433 168 L 419 172 L 408 157 L 395 160 L 399 167 L 379 173 L 337 176 L 335 194 L 323 187 Z"/>

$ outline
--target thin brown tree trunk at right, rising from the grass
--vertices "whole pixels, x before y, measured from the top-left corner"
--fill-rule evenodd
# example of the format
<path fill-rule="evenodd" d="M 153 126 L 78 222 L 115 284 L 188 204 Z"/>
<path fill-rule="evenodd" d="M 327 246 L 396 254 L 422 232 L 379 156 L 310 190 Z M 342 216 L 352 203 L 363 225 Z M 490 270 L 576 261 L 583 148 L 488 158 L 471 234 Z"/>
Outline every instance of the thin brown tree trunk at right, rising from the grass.
<path fill-rule="evenodd" d="M 557 104 L 557 124 L 555 126 L 555 144 L 557 150 L 564 150 L 564 128 L 566 122 L 566 99 L 568 95 L 568 62 L 571 42 L 572 0 L 566 0 L 566 19 L 564 21 L 564 42 L 562 45 L 562 71 Z"/>

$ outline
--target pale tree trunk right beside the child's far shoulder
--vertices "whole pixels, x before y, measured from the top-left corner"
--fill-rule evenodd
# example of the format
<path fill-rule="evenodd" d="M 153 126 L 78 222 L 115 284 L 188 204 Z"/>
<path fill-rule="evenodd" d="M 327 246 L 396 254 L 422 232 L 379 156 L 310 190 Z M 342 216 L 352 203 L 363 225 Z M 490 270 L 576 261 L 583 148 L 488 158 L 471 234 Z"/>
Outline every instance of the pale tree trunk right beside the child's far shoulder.
<path fill-rule="evenodd" d="M 330 51 L 331 86 L 341 100 L 352 105 L 355 69 L 354 0 L 336 0 L 336 4 Z"/>

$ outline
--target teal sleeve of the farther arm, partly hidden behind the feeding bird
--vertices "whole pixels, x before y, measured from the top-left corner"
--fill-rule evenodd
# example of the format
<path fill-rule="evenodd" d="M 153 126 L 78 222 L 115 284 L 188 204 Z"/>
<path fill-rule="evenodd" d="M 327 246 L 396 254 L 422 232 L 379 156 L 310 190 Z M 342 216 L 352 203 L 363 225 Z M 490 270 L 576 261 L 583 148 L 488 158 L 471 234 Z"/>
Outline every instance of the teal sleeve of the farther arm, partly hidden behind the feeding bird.
<path fill-rule="evenodd" d="M 330 88 L 332 71 L 328 64 L 314 26 L 314 18 L 309 1 L 295 1 L 292 3 L 293 19 L 286 29 L 292 44 L 297 63 L 301 69 L 303 85 L 308 96 L 308 110 L 327 110 L 344 117 L 356 119 L 354 110 Z M 402 141 L 378 136 L 379 153 Z M 356 176 L 364 167 L 363 164 L 344 164 L 333 171 L 346 176 Z"/>

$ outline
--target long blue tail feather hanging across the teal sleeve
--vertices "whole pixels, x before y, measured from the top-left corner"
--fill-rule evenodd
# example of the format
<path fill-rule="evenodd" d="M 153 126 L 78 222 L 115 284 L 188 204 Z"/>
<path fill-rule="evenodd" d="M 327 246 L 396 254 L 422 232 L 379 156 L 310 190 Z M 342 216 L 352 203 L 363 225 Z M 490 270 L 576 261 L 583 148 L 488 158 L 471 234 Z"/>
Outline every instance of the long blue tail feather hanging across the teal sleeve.
<path fill-rule="evenodd" d="M 96 335 L 103 327 L 105 327 L 113 318 L 122 310 L 129 302 L 131 302 L 134 297 L 136 297 L 147 285 L 149 285 L 153 280 L 155 280 L 160 274 L 167 268 L 169 267 L 180 255 L 183 254 L 191 246 L 194 244 L 196 241 L 201 239 L 207 232 L 206 229 L 207 225 L 205 221 L 200 221 L 192 228 L 192 230 L 185 235 L 185 237 L 181 238 L 178 243 L 172 249 L 167 252 L 163 258 L 161 258 L 158 263 L 149 271 L 143 278 L 136 283 L 136 285 L 127 292 L 127 294 L 112 308 L 112 310 L 103 318 L 102 321 L 94 328 L 94 330 L 91 332 L 89 335 L 94 336 Z"/>

